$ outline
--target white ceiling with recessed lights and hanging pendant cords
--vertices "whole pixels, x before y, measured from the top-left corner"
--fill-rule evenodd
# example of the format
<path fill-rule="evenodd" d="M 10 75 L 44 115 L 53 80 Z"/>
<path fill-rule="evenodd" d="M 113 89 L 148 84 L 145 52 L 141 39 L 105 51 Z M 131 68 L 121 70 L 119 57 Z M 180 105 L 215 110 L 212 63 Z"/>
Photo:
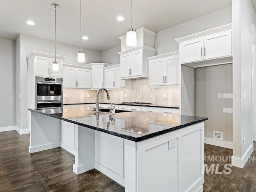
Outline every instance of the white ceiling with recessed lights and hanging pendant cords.
<path fill-rule="evenodd" d="M 58 42 L 80 46 L 79 0 L 0 0 L 0 38 L 15 40 L 19 33 L 54 40 L 54 9 Z M 231 0 L 133 0 L 133 26 L 154 31 L 231 6 Z M 122 15 L 125 20 L 118 22 Z M 82 0 L 82 46 L 107 50 L 120 45 L 119 36 L 130 26 L 130 1 Z M 34 26 L 28 26 L 33 20 Z"/>

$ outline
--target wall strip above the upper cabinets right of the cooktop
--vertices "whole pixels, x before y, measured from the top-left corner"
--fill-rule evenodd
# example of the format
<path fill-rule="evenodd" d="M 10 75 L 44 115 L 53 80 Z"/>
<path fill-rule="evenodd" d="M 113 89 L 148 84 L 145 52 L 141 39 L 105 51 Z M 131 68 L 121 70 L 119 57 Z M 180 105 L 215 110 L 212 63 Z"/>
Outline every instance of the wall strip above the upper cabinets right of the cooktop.
<path fill-rule="evenodd" d="M 157 32 L 154 37 L 156 54 L 179 50 L 176 38 L 232 23 L 232 7 L 190 20 L 177 26 Z"/>

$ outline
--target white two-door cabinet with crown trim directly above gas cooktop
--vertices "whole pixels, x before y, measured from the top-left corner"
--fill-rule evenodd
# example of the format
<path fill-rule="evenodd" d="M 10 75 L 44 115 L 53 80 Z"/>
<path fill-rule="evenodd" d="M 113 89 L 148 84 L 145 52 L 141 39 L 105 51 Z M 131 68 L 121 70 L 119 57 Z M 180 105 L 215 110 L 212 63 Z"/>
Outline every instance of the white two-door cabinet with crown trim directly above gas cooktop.
<path fill-rule="evenodd" d="M 154 56 L 156 49 L 140 46 L 118 52 L 121 62 L 121 79 L 147 78 L 148 57 Z"/>

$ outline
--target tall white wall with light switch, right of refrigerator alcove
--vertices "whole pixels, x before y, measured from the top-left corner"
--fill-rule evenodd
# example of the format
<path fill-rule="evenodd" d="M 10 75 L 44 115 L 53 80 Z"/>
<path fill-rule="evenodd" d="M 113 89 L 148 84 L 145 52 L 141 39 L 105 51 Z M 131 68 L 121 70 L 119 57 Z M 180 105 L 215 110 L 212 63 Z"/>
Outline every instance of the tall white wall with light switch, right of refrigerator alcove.
<path fill-rule="evenodd" d="M 252 142 L 252 34 L 256 14 L 249 0 L 232 1 L 233 7 L 233 157 L 245 160 Z M 246 100 L 242 94 L 246 93 Z M 243 139 L 246 145 L 243 145 Z M 234 165 L 235 162 L 232 162 Z"/>

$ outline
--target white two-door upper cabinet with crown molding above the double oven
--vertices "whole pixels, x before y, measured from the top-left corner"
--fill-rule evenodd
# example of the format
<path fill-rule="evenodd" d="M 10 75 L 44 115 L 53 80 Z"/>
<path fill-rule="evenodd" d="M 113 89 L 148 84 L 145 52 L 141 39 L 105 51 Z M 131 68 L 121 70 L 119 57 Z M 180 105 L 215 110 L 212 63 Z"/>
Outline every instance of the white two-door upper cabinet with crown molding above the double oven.
<path fill-rule="evenodd" d="M 31 51 L 27 56 L 29 71 L 33 71 L 34 76 L 42 77 L 62 77 L 64 56 L 56 56 L 58 66 L 53 66 L 55 55 Z"/>

